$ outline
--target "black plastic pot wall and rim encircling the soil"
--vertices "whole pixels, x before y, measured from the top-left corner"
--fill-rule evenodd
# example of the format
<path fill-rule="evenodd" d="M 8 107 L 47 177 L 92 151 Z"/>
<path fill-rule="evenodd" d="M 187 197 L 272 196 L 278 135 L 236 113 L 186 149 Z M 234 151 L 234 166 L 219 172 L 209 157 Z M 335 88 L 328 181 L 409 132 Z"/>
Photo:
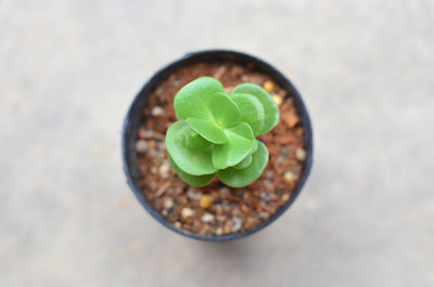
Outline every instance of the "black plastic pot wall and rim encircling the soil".
<path fill-rule="evenodd" d="M 139 169 L 137 164 L 137 154 L 135 149 L 135 143 L 138 140 L 138 131 L 145 120 L 142 116 L 143 108 L 146 104 L 148 95 L 157 87 L 164 79 L 169 77 L 174 71 L 177 69 L 190 65 L 197 62 L 208 62 L 208 61 L 221 61 L 221 62 L 233 62 L 241 65 L 253 65 L 254 69 L 257 71 L 264 73 L 269 75 L 272 80 L 280 86 L 282 89 L 288 91 L 290 97 L 293 99 L 295 108 L 301 117 L 301 121 L 304 126 L 304 141 L 305 146 L 304 148 L 307 152 L 307 157 L 305 160 L 305 165 L 302 170 L 302 174 L 299 178 L 298 183 L 296 184 L 293 194 L 288 200 L 288 203 L 282 206 L 273 216 L 271 216 L 268 221 L 257 225 L 255 229 L 235 233 L 235 234 L 228 234 L 221 236 L 213 236 L 213 235 L 200 235 L 194 234 L 184 230 L 178 230 L 174 227 L 174 225 L 168 222 L 157 210 L 155 210 L 152 205 L 146 200 L 145 196 L 143 195 L 141 188 L 139 187 Z M 142 88 L 139 94 L 133 100 L 128 114 L 125 118 L 124 128 L 123 128 L 123 139 L 122 139 L 122 153 L 123 153 L 123 161 L 124 161 L 124 171 L 127 175 L 127 181 L 129 186 L 131 187 L 132 192 L 135 193 L 137 199 L 141 203 L 144 209 L 148 210 L 159 223 L 165 225 L 166 227 L 170 229 L 171 231 L 182 234 L 184 236 L 201 239 L 201 240 L 209 240 L 209 242 L 225 242 L 230 239 L 242 238 L 247 235 L 251 235 L 259 230 L 264 229 L 271 222 L 273 222 L 278 217 L 280 217 L 291 205 L 294 203 L 295 198 L 302 191 L 304 183 L 306 182 L 310 167 L 312 165 L 312 130 L 309 120 L 309 116 L 307 114 L 306 107 L 303 103 L 302 96 L 298 94 L 297 90 L 291 83 L 289 79 L 286 79 L 279 70 L 267 64 L 266 62 L 234 51 L 227 51 L 227 50 L 210 50 L 210 51 L 201 51 L 189 53 L 182 58 L 168 64 L 166 67 L 157 71 Z"/>

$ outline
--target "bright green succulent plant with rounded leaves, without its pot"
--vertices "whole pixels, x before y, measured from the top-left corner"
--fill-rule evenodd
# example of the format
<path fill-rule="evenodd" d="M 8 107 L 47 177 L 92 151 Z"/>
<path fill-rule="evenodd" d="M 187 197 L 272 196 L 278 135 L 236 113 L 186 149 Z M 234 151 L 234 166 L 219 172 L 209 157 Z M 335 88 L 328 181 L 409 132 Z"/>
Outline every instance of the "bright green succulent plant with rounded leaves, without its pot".
<path fill-rule="evenodd" d="M 260 86 L 241 83 L 225 92 L 214 78 L 202 77 L 175 95 L 178 121 L 166 133 L 168 159 L 193 186 L 206 185 L 216 173 L 228 186 L 257 180 L 268 164 L 268 149 L 256 136 L 271 131 L 279 108 Z"/>

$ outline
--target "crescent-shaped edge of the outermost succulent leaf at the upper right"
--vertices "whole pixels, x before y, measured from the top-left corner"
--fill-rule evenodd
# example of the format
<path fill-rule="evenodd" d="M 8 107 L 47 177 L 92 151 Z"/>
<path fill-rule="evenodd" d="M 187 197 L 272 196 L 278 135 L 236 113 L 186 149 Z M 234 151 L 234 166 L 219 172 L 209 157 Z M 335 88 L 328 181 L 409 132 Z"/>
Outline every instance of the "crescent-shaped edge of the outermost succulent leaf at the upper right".
<path fill-rule="evenodd" d="M 251 82 L 244 82 L 235 87 L 233 93 L 247 93 L 256 96 L 263 104 L 265 117 L 264 126 L 259 134 L 264 134 L 272 130 L 279 122 L 279 108 L 272 97 L 260 86 Z"/>

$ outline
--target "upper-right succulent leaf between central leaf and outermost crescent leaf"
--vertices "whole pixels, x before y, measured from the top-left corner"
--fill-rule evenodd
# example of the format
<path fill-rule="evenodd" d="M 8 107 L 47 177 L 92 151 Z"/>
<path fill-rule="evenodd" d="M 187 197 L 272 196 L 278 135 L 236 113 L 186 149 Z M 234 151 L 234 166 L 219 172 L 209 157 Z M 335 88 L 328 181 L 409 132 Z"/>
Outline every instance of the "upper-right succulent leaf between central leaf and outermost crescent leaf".
<path fill-rule="evenodd" d="M 241 112 L 241 121 L 247 122 L 254 135 L 258 135 L 264 127 L 264 107 L 254 95 L 232 93 L 231 99 Z"/>

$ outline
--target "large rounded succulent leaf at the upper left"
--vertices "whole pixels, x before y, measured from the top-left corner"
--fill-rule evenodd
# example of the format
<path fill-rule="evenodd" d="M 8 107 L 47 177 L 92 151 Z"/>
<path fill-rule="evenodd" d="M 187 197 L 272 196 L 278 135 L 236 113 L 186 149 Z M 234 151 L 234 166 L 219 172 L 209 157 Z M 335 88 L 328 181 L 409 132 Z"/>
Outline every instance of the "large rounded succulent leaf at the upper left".
<path fill-rule="evenodd" d="M 213 119 L 210 101 L 216 93 L 225 92 L 221 83 L 209 77 L 202 77 L 187 83 L 175 95 L 174 106 L 179 119 Z"/>

